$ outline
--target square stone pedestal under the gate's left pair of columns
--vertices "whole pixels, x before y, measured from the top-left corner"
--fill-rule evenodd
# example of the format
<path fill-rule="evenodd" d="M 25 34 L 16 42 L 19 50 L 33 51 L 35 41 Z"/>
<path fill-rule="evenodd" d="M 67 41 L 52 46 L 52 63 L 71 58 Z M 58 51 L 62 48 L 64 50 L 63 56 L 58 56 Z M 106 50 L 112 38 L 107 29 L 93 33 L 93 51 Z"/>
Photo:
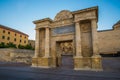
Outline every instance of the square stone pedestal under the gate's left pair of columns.
<path fill-rule="evenodd" d="M 50 57 L 32 58 L 32 67 L 50 68 Z"/>

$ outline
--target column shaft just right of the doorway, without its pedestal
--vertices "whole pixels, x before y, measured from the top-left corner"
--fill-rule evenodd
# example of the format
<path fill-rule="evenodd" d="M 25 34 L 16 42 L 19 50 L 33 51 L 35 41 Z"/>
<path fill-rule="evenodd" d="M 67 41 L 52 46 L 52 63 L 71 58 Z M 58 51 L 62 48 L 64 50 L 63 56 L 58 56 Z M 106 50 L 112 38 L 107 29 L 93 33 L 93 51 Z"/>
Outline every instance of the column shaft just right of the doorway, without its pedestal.
<path fill-rule="evenodd" d="M 80 31 L 80 23 L 75 23 L 75 38 L 76 38 L 76 57 L 82 57 L 81 52 L 81 31 Z"/>

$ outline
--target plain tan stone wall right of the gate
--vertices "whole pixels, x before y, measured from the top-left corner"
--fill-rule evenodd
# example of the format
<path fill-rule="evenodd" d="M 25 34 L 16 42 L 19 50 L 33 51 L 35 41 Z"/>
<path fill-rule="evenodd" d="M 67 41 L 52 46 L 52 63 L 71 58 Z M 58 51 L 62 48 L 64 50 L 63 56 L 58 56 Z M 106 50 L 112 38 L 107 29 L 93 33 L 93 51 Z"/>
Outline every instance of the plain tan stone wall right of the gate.
<path fill-rule="evenodd" d="M 116 54 L 120 51 L 120 29 L 98 31 L 99 51 L 102 54 Z"/>

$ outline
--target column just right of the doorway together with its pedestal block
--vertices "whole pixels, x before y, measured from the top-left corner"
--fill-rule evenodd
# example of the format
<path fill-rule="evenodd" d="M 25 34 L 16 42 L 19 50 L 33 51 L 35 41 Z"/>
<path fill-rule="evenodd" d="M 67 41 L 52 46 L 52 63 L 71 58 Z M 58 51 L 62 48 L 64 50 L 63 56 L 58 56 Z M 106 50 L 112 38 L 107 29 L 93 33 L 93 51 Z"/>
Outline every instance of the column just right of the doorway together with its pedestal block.
<path fill-rule="evenodd" d="M 80 30 L 80 22 L 75 23 L 75 50 L 76 54 L 74 57 L 74 70 L 82 70 L 83 69 L 83 57 L 82 57 L 82 49 L 81 49 L 81 30 Z"/>

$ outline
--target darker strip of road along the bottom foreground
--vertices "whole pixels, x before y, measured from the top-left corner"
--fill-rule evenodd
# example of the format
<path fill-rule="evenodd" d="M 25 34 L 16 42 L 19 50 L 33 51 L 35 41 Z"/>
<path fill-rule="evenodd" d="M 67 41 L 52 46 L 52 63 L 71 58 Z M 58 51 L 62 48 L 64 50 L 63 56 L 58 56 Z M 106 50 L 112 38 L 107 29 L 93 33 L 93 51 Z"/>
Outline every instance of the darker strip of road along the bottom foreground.
<path fill-rule="evenodd" d="M 0 67 L 0 80 L 120 80 L 120 73 Z"/>

